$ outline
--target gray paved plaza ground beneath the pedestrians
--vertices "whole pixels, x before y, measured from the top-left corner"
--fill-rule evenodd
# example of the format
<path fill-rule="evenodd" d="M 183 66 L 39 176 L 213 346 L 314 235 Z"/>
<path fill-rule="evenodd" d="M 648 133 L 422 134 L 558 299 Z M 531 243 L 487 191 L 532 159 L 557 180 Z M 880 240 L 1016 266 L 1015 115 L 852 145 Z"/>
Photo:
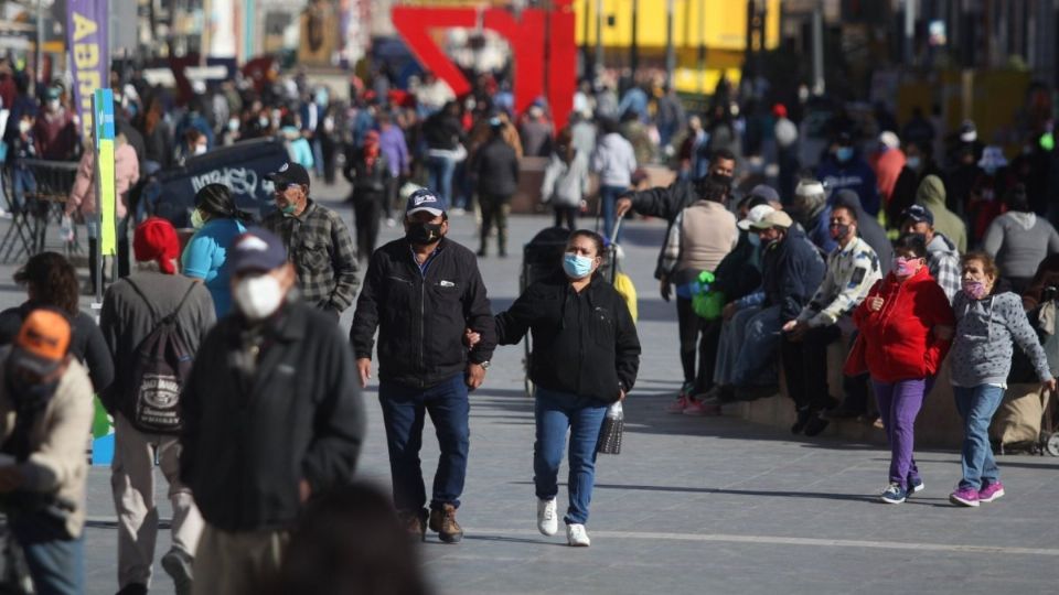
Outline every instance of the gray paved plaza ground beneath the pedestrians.
<path fill-rule="evenodd" d="M 327 194 L 341 196 L 342 188 Z M 349 209 L 343 213 L 349 220 Z M 513 217 L 512 256 L 480 266 L 494 311 L 517 294 L 521 246 L 550 218 Z M 591 227 L 591 220 L 586 221 Z M 399 228 L 384 228 L 385 239 Z M 467 537 L 424 544 L 426 573 L 443 595 L 515 593 L 787 594 L 1053 593 L 1059 584 L 1059 458 L 1001 457 L 1008 495 L 956 509 L 955 452 L 920 452 L 926 491 L 901 506 L 877 504 L 889 454 L 732 418 L 662 412 L 681 381 L 676 313 L 652 279 L 664 226 L 627 227 L 625 270 L 640 292 L 640 380 L 625 407 L 619 456 L 601 455 L 588 530 L 571 549 L 535 527 L 533 401 L 523 389 L 522 347 L 502 347 L 471 397 L 471 451 L 459 520 Z M 453 217 L 450 238 L 477 248 L 473 217 Z M 495 253 L 495 249 L 491 249 Z M 22 299 L 0 267 L 0 306 Z M 87 302 L 85 303 L 87 307 Z M 343 317 L 349 327 L 352 310 Z M 360 477 L 389 484 L 382 415 L 365 393 L 368 437 Z M 437 446 L 425 430 L 429 486 Z M 565 478 L 566 470 L 560 472 Z M 165 486 L 158 488 L 164 499 Z M 566 496 L 565 482 L 559 491 Z M 162 517 L 169 518 L 162 504 Z M 116 531 L 109 469 L 93 468 L 86 536 L 88 593 L 116 591 Z M 351 536 L 351 539 L 356 539 Z M 160 536 L 157 559 L 169 547 Z M 172 593 L 156 566 L 152 593 Z"/>

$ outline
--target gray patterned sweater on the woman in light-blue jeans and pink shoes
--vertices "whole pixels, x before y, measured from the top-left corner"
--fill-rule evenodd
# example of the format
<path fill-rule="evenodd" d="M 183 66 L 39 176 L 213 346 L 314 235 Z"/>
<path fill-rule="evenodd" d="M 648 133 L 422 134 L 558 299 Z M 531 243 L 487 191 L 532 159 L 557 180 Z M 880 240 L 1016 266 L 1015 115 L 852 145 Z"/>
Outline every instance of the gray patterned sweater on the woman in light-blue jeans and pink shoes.
<path fill-rule="evenodd" d="M 1010 292 L 972 300 L 960 291 L 952 303 L 956 333 L 949 355 L 958 387 L 1005 385 L 1012 369 L 1012 342 L 1026 351 L 1037 377 L 1051 379 L 1048 358 L 1026 318 L 1021 299 Z"/>

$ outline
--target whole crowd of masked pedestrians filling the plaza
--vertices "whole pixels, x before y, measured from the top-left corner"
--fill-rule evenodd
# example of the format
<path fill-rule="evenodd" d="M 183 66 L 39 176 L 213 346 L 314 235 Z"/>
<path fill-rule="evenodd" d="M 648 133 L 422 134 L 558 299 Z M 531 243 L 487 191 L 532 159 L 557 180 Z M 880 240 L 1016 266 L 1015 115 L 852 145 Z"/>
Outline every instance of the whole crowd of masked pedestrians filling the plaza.
<path fill-rule="evenodd" d="M 309 545 L 330 543 L 362 564 L 327 569 L 346 578 L 378 554 L 335 528 L 462 540 L 469 393 L 485 382 L 495 348 L 526 335 L 537 527 L 558 532 L 569 440 L 566 539 L 589 545 L 603 415 L 633 389 L 641 349 L 624 298 L 599 270 L 605 238 L 620 241 L 614 226 L 633 214 L 666 223 L 655 277 L 662 299 L 675 299 L 683 370 L 666 409 L 718 414 L 774 394 L 782 379 L 795 434 L 819 435 L 843 418 L 878 421 L 891 448 L 884 502 L 924 488 L 914 422 L 946 360 L 966 436 L 955 505 L 1004 496 L 987 429 L 1015 344 L 1056 389 L 1059 370 L 1035 327 L 1059 286 L 1049 221 L 1059 188 L 1041 172 L 1053 158 L 1040 132 L 1008 163 L 965 122 L 935 161 L 943 134 L 921 110 L 901 130 L 870 134 L 838 111 L 817 162 L 799 163 L 803 106 L 735 109 L 724 84 L 705 113 L 688 115 L 672 89 L 623 84 L 619 96 L 585 82 L 570 123 L 555 130 L 543 100 L 514 113 L 490 76 L 456 98 L 429 73 L 407 93 L 378 75 L 355 79 L 347 102 L 301 76 L 226 82 L 180 107 L 137 75 L 117 83 L 119 253 L 107 266 L 120 279 L 99 325 L 77 309 L 73 267 L 51 252 L 15 278 L 28 302 L 0 313 L 0 410 L 14 413 L 0 416 L 0 456 L 13 463 L 0 466 L 0 494 L 44 592 L 82 587 L 94 392 L 115 420 L 120 593 L 146 593 L 152 581 L 156 461 L 173 507 L 161 565 L 179 593 L 289 592 L 325 566 Z M 8 155 L 79 159 L 66 213 L 90 220 L 94 149 L 77 142 L 68 89 L 49 86 L 38 107 L 17 87 Z M 266 137 L 281 139 L 290 160 L 268 175 L 275 208 L 259 225 L 223 184 L 195 194 L 183 248 L 169 221 L 150 216 L 146 176 Z M 571 234 L 554 273 L 494 314 L 478 258 L 494 229 L 498 256 L 507 255 L 524 156 L 545 158 L 541 198 Z M 633 190 L 645 165 L 667 159 L 671 185 Z M 755 169 L 762 161 L 774 175 Z M 17 212 L 33 180 L 9 165 Z M 313 184 L 333 183 L 338 171 L 353 184 L 353 234 L 312 198 Z M 405 191 L 409 181 L 427 187 Z M 577 230 L 592 199 L 602 235 Z M 469 210 L 481 218 L 477 257 L 448 238 L 450 217 Z M 405 232 L 376 249 L 383 221 Z M 89 228 L 89 242 L 98 234 Z M 351 307 L 345 337 L 336 321 Z M 828 386 L 836 343 L 847 357 L 841 386 Z M 393 509 L 351 486 L 373 359 Z M 441 452 L 429 498 L 419 457 L 427 415 Z M 407 554 L 404 540 L 379 543 Z M 378 584 L 424 591 L 413 571 L 387 576 L 394 583 Z"/>

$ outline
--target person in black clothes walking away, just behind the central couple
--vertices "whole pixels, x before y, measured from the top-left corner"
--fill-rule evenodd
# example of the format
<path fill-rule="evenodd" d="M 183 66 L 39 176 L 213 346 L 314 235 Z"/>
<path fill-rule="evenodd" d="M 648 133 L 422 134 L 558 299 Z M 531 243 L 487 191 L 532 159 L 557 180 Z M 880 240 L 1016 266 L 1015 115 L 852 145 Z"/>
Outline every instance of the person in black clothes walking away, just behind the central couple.
<path fill-rule="evenodd" d="M 518 156 L 504 141 L 504 123 L 500 118 L 489 120 L 490 139 L 474 153 L 469 173 L 478 188 L 482 206 L 481 244 L 478 256 L 484 257 L 489 235 L 496 224 L 496 250 L 500 258 L 507 256 L 507 213 L 511 197 L 518 190 Z"/>

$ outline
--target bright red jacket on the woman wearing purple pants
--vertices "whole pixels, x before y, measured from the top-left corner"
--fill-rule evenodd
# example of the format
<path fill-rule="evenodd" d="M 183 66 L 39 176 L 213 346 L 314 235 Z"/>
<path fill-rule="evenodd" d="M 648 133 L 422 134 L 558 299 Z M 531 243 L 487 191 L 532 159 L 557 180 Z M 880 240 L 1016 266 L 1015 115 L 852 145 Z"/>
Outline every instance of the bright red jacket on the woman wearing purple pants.
<path fill-rule="evenodd" d="M 882 299 L 873 312 L 870 303 Z M 934 376 L 949 353 L 951 339 L 938 338 L 935 326 L 955 325 L 945 292 L 927 267 L 900 282 L 888 274 L 877 282 L 853 313 L 865 342 L 865 359 L 871 378 L 896 382 Z"/>

